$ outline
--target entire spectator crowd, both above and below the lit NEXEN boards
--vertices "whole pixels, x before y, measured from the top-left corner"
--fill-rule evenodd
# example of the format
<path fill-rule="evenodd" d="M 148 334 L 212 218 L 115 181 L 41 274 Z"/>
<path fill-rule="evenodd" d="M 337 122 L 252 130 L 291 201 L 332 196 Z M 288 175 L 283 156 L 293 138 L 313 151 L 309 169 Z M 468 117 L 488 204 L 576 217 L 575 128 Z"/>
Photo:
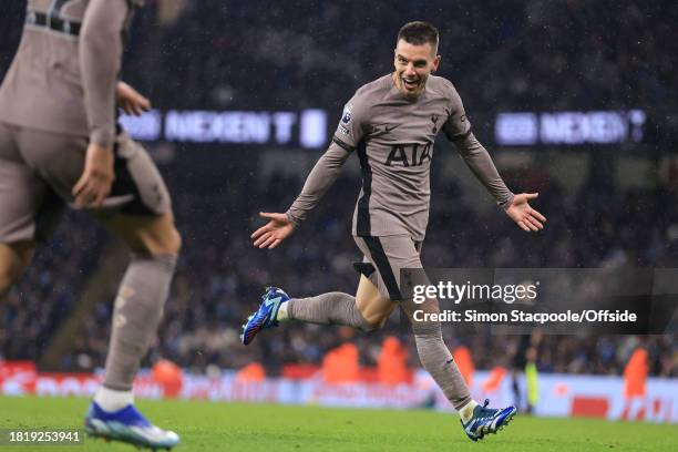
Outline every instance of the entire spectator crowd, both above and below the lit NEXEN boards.
<path fill-rule="evenodd" d="M 678 10 L 668 1 L 512 0 L 489 8 L 470 1 L 379 0 L 369 11 L 357 1 L 314 1 L 311 8 L 308 2 L 201 1 L 186 2 L 163 24 L 158 1 L 150 3 L 130 37 L 124 78 L 160 109 L 339 111 L 357 86 L 390 70 L 402 18 L 421 18 L 440 24 L 441 74 L 454 81 L 471 111 L 639 105 L 658 115 L 676 111 L 668 56 L 678 54 L 671 25 Z M 669 18 L 640 27 L 658 14 Z M 8 52 L 13 49 L 3 53 L 3 63 L 9 63 Z M 319 363 L 346 340 L 355 341 L 368 366 L 374 364 L 386 333 L 408 340 L 396 327 L 362 336 L 343 328 L 286 326 L 250 347 L 239 343 L 240 323 L 266 285 L 294 296 L 355 291 L 351 264 L 360 256 L 349 232 L 357 176 L 342 175 L 295 237 L 276 251 L 263 251 L 249 239 L 260 224 L 257 213 L 286 208 L 300 189 L 297 177 L 275 174 L 261 182 L 251 171 L 224 170 L 218 179 L 201 178 L 199 167 L 188 177 L 185 167 L 172 164 L 163 171 L 184 247 L 147 363 L 166 358 L 202 371 L 208 364 L 237 369 L 257 360 L 276 374 L 285 363 Z M 423 261 L 431 267 L 677 267 L 677 174 L 657 179 L 653 189 L 622 191 L 592 168 L 569 201 L 567 188 L 547 177 L 506 174 L 514 191 L 542 193 L 538 205 L 548 226 L 537 236 L 476 212 L 454 181 L 434 177 Z M 0 304 L 0 358 L 38 359 L 95 271 L 91 256 L 104 249 L 102 233 L 78 215 L 68 218 L 9 302 Z M 103 364 L 113 297 L 102 297 L 82 322 L 74 348 L 63 356 L 64 370 Z M 510 366 L 517 337 L 448 340 L 468 345 L 483 369 Z M 649 351 L 651 374 L 678 376 L 678 346 L 670 336 L 551 336 L 537 366 L 619 374 L 638 343 Z M 412 350 L 412 366 L 418 366 L 415 356 Z"/>

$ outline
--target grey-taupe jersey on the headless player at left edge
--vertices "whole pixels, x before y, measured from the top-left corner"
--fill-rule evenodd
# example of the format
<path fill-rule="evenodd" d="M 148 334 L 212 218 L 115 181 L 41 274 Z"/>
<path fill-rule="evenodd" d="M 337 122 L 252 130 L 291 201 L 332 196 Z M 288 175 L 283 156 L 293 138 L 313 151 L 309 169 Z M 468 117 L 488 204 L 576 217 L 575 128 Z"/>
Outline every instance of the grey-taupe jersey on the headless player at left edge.
<path fill-rule="evenodd" d="M 0 121 L 110 146 L 122 33 L 135 1 L 29 0 L 21 43 L 0 86 Z"/>

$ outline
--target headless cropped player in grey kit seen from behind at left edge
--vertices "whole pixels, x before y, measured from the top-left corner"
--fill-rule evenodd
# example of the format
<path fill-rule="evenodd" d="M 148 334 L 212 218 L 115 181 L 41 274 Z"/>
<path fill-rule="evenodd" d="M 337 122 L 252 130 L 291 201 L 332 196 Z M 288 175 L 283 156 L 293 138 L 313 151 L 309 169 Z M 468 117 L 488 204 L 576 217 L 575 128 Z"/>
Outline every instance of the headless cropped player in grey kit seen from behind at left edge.
<path fill-rule="evenodd" d="M 178 443 L 135 408 L 132 381 L 156 333 L 181 237 L 146 152 L 116 125 L 148 101 L 119 82 L 136 1 L 29 0 L 19 51 L 0 88 L 0 298 L 21 277 L 65 205 L 121 237 L 120 286 L 102 387 L 85 417 L 95 436 L 152 449 Z"/>

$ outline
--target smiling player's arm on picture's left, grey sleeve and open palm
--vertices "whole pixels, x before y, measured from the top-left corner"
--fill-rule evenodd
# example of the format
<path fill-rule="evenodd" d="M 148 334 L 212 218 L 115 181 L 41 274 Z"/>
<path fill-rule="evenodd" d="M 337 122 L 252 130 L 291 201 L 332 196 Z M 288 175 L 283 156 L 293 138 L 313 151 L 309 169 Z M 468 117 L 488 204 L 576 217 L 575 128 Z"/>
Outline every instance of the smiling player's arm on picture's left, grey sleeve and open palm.
<path fill-rule="evenodd" d="M 318 160 L 311 170 L 301 193 L 285 214 L 261 212 L 259 215 L 269 222 L 255 230 L 251 235 L 254 246 L 258 248 L 275 248 L 287 238 L 295 228 L 306 219 L 309 210 L 318 205 L 322 195 L 332 186 L 341 166 L 351 152 L 332 141 L 325 154 Z"/>

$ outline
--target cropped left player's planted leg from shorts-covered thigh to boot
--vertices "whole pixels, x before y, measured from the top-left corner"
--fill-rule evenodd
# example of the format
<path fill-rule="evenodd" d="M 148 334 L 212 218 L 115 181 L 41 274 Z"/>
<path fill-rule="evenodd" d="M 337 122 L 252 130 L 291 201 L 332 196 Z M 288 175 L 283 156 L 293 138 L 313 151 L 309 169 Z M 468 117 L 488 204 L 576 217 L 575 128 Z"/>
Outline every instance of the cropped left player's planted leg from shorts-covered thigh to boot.
<path fill-rule="evenodd" d="M 150 448 L 170 448 L 178 435 L 152 425 L 133 405 L 132 383 L 156 335 L 181 248 L 170 195 L 157 168 L 135 142 L 120 137 L 116 184 L 109 199 L 135 202 L 91 215 L 122 238 L 132 253 L 120 285 L 104 381 L 85 425 L 91 434 Z M 105 205 L 105 203 L 104 203 Z"/>

